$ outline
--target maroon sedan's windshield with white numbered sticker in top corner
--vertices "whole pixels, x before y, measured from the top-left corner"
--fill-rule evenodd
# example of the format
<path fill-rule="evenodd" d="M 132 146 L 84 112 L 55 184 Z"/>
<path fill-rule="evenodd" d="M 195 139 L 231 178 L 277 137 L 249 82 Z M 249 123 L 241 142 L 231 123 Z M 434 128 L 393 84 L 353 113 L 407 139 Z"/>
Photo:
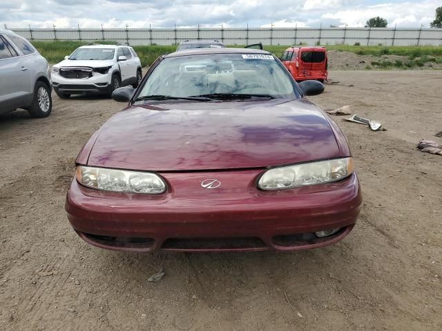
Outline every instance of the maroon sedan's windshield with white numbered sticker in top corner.
<path fill-rule="evenodd" d="M 212 94 L 298 97 L 289 74 L 271 54 L 200 54 L 161 61 L 137 99 Z"/>

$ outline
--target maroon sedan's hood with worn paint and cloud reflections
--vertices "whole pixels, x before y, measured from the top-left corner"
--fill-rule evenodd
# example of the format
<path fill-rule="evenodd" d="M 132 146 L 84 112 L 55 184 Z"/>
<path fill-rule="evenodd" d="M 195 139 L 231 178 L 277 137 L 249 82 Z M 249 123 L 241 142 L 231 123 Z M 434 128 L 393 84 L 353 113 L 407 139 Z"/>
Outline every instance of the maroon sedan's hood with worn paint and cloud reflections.
<path fill-rule="evenodd" d="M 264 168 L 339 157 L 325 114 L 309 101 L 129 106 L 97 134 L 88 165 L 152 171 Z"/>

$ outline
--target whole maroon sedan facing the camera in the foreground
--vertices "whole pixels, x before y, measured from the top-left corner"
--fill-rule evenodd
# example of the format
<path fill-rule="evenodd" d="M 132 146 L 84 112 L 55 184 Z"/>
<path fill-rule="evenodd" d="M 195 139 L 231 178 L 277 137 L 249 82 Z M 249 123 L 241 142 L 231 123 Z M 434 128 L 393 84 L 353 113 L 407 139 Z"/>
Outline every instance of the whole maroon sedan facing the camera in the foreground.
<path fill-rule="evenodd" d="M 361 209 L 347 141 L 269 52 L 160 57 L 77 157 L 68 219 L 134 252 L 300 250 L 343 239 Z"/>

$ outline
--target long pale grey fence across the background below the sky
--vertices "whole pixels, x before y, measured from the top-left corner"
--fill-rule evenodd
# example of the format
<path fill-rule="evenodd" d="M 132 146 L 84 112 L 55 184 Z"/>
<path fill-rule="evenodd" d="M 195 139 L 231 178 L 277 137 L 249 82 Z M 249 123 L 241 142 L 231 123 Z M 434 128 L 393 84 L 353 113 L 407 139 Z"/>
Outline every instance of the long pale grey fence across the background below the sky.
<path fill-rule="evenodd" d="M 220 40 L 227 45 L 442 46 L 436 28 L 12 28 L 30 40 L 110 40 L 137 45 L 177 45 L 188 39 Z"/>

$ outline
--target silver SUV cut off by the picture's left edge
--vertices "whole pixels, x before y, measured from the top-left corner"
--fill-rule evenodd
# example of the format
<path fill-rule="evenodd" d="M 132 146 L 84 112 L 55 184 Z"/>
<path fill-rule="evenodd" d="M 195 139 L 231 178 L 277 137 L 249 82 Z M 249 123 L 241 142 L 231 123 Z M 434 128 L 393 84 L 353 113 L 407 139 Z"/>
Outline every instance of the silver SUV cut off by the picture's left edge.
<path fill-rule="evenodd" d="M 0 29 L 0 114 L 17 108 L 32 117 L 52 110 L 48 61 L 23 37 Z"/>

